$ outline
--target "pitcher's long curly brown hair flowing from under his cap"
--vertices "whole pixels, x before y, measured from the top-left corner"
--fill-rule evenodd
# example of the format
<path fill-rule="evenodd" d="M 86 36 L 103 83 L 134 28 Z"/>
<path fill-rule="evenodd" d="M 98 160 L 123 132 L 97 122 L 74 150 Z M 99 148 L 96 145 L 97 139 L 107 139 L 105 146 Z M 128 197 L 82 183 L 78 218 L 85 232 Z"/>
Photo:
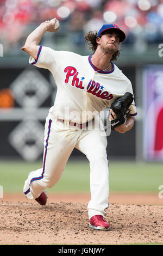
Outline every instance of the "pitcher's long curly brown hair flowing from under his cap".
<path fill-rule="evenodd" d="M 102 35 L 99 35 L 98 37 L 101 38 L 101 36 Z M 95 53 L 98 46 L 96 42 L 96 38 L 97 38 L 97 31 L 89 31 L 84 35 L 85 42 L 89 46 L 89 49 L 93 51 L 93 53 Z M 120 56 L 120 50 L 112 54 L 111 60 L 117 60 L 119 56 Z"/>

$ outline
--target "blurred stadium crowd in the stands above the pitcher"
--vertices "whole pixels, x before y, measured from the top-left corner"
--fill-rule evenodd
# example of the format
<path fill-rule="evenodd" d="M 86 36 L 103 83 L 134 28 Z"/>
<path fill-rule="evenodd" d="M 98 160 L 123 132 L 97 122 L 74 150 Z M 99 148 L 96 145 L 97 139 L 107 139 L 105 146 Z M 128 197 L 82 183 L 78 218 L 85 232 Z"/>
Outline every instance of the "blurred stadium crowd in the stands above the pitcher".
<path fill-rule="evenodd" d="M 146 44 L 163 40 L 163 0 L 1 0 L 0 43 L 5 51 L 22 45 L 39 23 L 57 17 L 61 32 L 74 33 L 73 43 L 82 45 L 87 31 L 98 31 L 104 23 L 115 23 L 127 36 Z"/>

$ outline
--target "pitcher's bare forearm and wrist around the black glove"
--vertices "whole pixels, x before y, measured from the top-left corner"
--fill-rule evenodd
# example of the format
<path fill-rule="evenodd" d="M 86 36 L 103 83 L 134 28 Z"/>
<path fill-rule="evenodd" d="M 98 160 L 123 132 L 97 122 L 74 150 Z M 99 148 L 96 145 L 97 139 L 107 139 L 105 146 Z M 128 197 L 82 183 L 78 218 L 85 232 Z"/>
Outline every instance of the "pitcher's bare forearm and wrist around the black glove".
<path fill-rule="evenodd" d="M 112 116 L 110 115 L 109 120 L 112 121 L 112 120 L 116 119 L 117 116 L 114 113 L 114 111 L 112 111 L 112 109 L 110 109 L 110 112 L 111 112 L 112 116 L 114 117 L 114 118 L 112 118 Z M 134 126 L 134 123 L 135 123 L 135 117 L 129 115 L 129 117 L 126 118 L 125 123 L 116 127 L 115 130 L 120 133 L 125 133 L 125 132 L 131 130 L 131 128 Z"/>

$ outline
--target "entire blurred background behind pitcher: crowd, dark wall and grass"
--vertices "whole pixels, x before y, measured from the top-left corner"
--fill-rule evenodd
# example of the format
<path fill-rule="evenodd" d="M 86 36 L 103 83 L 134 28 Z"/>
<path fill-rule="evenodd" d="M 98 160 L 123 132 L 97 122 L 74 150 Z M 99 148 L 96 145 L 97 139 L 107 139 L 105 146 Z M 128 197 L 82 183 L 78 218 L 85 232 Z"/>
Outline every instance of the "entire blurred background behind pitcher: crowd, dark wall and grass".
<path fill-rule="evenodd" d="M 45 118 L 57 91 L 51 73 L 30 66 L 20 48 L 41 22 L 54 17 L 60 29 L 47 32 L 41 44 L 55 50 L 91 55 L 84 34 L 104 23 L 126 33 L 115 64 L 133 84 L 137 116 L 133 129 L 108 136 L 110 188 L 158 193 L 163 182 L 163 0 L 0 1 L 0 185 L 7 192 L 22 191 L 24 177 L 42 165 Z M 52 190 L 89 191 L 84 155 L 74 149 L 65 170 Z"/>

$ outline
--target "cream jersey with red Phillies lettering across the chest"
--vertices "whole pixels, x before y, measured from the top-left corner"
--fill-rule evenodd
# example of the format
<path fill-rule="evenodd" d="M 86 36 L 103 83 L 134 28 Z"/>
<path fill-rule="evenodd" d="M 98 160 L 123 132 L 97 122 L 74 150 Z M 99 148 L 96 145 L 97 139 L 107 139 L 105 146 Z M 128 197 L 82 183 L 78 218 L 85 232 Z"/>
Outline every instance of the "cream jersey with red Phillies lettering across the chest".
<path fill-rule="evenodd" d="M 133 94 L 131 82 L 114 63 L 109 72 L 97 70 L 91 56 L 40 46 L 37 59 L 30 57 L 29 63 L 52 72 L 58 89 L 49 113 L 55 118 L 85 123 L 92 119 L 89 113 L 110 107 L 126 92 Z M 130 109 L 137 114 L 134 105 Z"/>

